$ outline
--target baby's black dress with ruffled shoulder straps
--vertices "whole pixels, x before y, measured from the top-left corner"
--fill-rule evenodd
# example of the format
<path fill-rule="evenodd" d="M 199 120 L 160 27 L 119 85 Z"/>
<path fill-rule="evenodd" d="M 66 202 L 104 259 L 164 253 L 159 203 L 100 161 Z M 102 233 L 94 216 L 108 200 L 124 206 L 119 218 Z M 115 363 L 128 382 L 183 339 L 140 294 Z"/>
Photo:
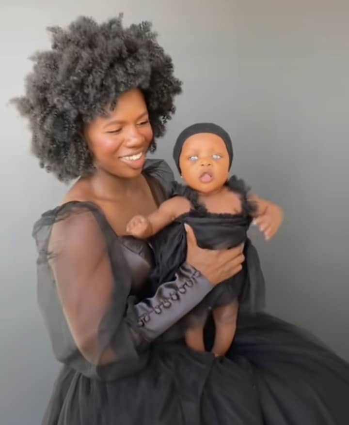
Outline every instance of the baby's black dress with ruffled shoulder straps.
<path fill-rule="evenodd" d="M 245 243 L 243 269 L 210 291 L 204 300 L 188 315 L 179 320 L 163 338 L 183 335 L 189 326 L 203 324 L 209 311 L 234 300 L 239 301 L 239 310 L 254 313 L 264 307 L 265 283 L 259 258 L 254 245 L 247 237 L 253 219 L 255 205 L 248 200 L 248 187 L 242 180 L 232 176 L 226 187 L 241 200 L 241 213 L 209 213 L 200 203 L 198 193 L 190 187 L 173 182 L 170 197 L 186 197 L 190 212 L 180 215 L 174 223 L 162 229 L 149 240 L 154 253 L 154 267 L 149 275 L 155 293 L 161 282 L 173 280 L 179 267 L 185 262 L 187 239 L 184 223 L 189 224 L 198 245 L 207 249 L 227 249 Z M 209 349 L 209 347 L 207 347 Z"/>

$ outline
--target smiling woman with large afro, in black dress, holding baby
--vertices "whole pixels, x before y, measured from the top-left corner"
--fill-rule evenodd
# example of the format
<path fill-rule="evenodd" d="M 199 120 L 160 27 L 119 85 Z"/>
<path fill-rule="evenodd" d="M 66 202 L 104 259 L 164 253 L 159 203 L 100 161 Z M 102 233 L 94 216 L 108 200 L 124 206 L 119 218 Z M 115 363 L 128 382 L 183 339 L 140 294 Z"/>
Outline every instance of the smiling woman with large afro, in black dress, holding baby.
<path fill-rule="evenodd" d="M 188 228 L 186 262 L 146 297 L 151 252 L 124 235 L 167 195 L 171 170 L 145 153 L 181 84 L 147 23 L 79 18 L 51 31 L 14 100 L 42 167 L 78 178 L 33 233 L 39 305 L 64 364 L 43 424 L 347 424 L 348 364 L 285 322 L 241 316 L 224 358 L 159 338 L 241 270 L 243 248 L 200 249 Z"/>

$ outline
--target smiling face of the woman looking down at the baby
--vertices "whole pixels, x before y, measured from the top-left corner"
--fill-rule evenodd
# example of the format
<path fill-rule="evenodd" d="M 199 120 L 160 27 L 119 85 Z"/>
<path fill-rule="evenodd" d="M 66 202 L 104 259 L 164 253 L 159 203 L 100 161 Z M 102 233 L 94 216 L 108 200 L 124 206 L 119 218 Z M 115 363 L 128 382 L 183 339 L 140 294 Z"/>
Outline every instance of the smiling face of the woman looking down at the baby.
<path fill-rule="evenodd" d="M 121 178 L 139 175 L 153 139 L 142 92 L 122 93 L 108 117 L 85 124 L 84 136 L 97 169 Z"/>

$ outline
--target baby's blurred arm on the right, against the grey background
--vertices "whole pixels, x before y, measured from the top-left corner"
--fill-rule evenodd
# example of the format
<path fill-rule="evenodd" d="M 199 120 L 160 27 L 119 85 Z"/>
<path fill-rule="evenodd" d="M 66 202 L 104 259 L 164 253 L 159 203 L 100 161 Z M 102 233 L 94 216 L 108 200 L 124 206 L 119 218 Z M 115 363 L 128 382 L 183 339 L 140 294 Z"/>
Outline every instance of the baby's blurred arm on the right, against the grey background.
<path fill-rule="evenodd" d="M 254 224 L 265 234 L 267 240 L 271 239 L 284 220 L 282 208 L 254 194 L 249 195 L 249 200 L 256 206 L 256 211 L 253 213 Z"/>

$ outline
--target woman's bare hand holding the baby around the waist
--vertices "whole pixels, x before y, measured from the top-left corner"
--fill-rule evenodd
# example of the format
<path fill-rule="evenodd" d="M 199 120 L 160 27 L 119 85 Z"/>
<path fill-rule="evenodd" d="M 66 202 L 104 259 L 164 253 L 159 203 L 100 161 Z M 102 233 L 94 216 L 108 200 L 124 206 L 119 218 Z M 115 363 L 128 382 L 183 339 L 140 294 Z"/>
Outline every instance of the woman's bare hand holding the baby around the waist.
<path fill-rule="evenodd" d="M 217 285 L 241 271 L 245 260 L 242 253 L 244 244 L 231 249 L 203 249 L 197 245 L 192 228 L 187 224 L 185 228 L 188 246 L 186 261 L 203 274 L 212 285 Z"/>

